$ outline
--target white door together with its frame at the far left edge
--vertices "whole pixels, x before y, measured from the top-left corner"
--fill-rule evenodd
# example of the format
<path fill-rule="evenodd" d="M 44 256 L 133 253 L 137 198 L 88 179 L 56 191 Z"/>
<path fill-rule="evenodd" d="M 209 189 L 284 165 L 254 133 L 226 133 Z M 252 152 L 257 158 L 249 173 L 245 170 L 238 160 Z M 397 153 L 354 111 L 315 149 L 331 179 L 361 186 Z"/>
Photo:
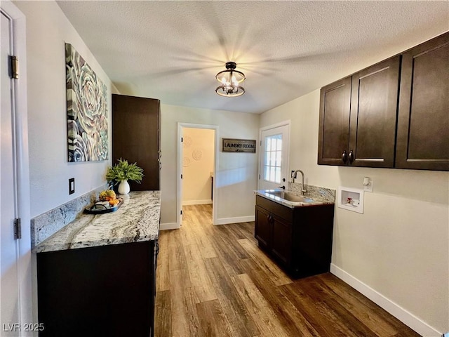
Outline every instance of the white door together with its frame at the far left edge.
<path fill-rule="evenodd" d="M 25 16 L 1 2 L 0 323 L 1 336 L 23 336 L 32 318 Z M 20 62 L 13 79 L 10 56 Z M 23 64 L 23 66 L 21 66 Z M 22 223 L 22 230 L 15 230 Z M 20 238 L 21 237 L 21 238 Z"/>

